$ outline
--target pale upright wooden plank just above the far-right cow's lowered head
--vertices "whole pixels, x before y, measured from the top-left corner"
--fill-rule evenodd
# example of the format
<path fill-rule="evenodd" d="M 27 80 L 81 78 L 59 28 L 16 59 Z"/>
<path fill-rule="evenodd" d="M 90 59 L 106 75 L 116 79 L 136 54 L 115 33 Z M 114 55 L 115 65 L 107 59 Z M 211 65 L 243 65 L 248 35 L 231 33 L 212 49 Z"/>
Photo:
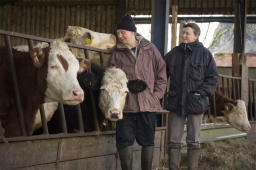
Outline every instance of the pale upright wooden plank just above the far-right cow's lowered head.
<path fill-rule="evenodd" d="M 248 106 L 248 76 L 249 67 L 242 64 L 241 73 L 241 99 L 245 101 L 245 105 Z"/>

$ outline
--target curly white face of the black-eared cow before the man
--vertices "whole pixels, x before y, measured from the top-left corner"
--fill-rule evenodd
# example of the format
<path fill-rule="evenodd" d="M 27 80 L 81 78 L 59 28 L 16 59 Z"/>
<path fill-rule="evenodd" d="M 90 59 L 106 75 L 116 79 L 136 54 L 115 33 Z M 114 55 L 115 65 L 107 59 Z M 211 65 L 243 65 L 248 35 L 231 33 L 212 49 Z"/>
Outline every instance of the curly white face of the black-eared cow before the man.
<path fill-rule="evenodd" d="M 128 79 L 122 69 L 112 68 L 105 71 L 100 88 L 99 107 L 106 119 L 118 121 L 122 119 L 125 98 L 128 93 Z"/>

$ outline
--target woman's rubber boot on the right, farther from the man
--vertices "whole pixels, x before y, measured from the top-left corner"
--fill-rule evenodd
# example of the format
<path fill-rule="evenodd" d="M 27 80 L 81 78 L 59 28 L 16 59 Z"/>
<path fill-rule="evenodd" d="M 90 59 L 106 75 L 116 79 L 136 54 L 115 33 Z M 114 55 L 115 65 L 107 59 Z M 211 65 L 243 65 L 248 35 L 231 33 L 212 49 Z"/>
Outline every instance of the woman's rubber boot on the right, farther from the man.
<path fill-rule="evenodd" d="M 197 170 L 199 159 L 199 149 L 188 149 L 187 150 L 187 169 Z"/>

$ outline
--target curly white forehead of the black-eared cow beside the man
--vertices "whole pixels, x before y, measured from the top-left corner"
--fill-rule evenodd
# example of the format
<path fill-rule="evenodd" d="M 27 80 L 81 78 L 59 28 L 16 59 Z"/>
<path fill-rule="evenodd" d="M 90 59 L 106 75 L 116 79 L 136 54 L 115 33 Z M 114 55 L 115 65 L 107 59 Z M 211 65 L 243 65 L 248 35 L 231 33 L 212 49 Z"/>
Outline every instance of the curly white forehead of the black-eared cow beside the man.
<path fill-rule="evenodd" d="M 104 77 L 102 79 L 102 87 L 116 86 L 119 89 L 127 89 L 128 79 L 122 69 L 109 68 L 106 69 Z"/>

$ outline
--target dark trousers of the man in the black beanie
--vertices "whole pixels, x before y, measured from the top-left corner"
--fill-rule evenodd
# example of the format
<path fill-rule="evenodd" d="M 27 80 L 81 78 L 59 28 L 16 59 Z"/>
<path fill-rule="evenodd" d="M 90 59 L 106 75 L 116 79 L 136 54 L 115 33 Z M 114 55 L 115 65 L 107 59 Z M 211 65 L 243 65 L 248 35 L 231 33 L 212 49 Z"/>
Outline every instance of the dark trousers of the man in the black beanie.
<path fill-rule="evenodd" d="M 154 146 L 156 132 L 156 112 L 123 113 L 123 119 L 117 121 L 117 148 L 134 144 Z"/>

